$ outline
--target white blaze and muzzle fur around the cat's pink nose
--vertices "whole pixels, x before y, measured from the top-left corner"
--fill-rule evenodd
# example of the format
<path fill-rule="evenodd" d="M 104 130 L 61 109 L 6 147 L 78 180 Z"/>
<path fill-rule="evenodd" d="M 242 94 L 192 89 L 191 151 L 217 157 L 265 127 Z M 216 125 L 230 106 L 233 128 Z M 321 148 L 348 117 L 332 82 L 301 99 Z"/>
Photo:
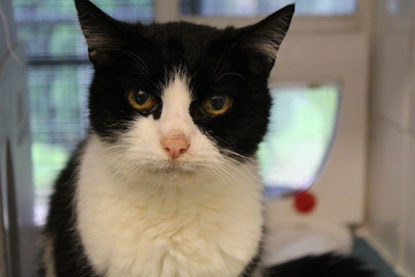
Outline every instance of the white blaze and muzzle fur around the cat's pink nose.
<path fill-rule="evenodd" d="M 138 116 L 129 131 L 108 146 L 107 162 L 121 175 L 170 169 L 169 154 L 161 145 L 162 139 L 169 136 L 184 136 L 189 143 L 186 152 L 175 161 L 176 169 L 196 171 L 218 167 L 223 162 L 215 143 L 193 122 L 189 111 L 192 94 L 186 77 L 180 73 L 172 76 L 161 92 L 160 118 Z"/>

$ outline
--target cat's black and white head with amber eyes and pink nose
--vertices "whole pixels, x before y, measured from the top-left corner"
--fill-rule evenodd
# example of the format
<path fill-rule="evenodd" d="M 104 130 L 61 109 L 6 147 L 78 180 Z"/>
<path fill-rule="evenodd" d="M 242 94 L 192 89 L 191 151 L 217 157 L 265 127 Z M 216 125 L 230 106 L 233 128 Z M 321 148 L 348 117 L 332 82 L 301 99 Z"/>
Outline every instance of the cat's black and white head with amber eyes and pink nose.
<path fill-rule="evenodd" d="M 267 80 L 294 6 L 217 29 L 115 20 L 76 0 L 95 73 L 92 131 L 137 168 L 195 171 L 252 157 L 267 130 Z"/>

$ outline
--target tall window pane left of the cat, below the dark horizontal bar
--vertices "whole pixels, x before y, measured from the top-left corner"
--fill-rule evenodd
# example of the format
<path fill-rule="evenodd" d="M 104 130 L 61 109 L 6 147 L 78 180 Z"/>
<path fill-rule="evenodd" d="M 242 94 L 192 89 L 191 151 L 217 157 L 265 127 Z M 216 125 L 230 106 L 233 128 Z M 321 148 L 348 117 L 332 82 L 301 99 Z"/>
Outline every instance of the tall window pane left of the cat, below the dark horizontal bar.
<path fill-rule="evenodd" d="M 40 63 L 40 61 L 39 61 Z M 29 67 L 35 222 L 46 216 L 48 197 L 57 174 L 87 127 L 87 64 Z"/>

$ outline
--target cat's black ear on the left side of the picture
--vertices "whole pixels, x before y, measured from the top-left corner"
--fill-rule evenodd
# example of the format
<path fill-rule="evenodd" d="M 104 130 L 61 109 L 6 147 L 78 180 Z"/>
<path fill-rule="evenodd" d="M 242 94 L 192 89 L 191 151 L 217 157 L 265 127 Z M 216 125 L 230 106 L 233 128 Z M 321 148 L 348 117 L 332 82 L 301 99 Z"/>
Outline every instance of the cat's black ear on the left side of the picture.
<path fill-rule="evenodd" d="M 120 22 L 100 10 L 89 0 L 75 0 L 78 19 L 94 65 L 111 60 L 111 52 L 122 48 Z"/>

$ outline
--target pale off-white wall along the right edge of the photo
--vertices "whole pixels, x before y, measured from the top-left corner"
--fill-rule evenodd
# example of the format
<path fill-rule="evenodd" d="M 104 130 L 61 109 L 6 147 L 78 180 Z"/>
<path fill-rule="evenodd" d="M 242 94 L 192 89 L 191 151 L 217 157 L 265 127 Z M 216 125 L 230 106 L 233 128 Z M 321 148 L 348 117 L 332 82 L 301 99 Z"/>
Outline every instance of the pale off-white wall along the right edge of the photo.
<path fill-rule="evenodd" d="M 415 0 L 376 1 L 367 219 L 372 243 L 415 276 Z"/>

